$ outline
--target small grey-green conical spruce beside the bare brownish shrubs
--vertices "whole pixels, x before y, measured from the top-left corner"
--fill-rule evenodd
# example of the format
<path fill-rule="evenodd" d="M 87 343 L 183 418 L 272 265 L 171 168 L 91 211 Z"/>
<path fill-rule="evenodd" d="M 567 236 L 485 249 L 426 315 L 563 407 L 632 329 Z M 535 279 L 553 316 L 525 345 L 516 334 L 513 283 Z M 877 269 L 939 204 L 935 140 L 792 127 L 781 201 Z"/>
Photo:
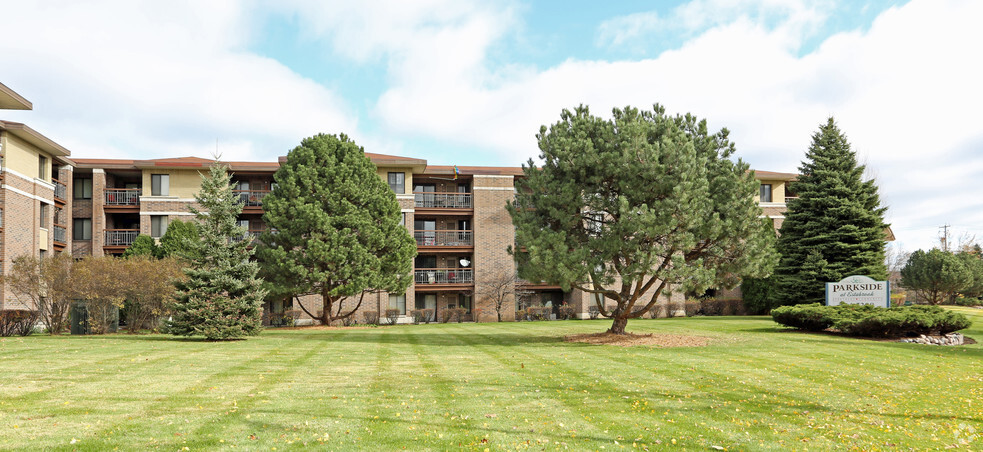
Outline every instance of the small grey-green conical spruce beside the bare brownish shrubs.
<path fill-rule="evenodd" d="M 175 283 L 171 334 L 228 340 L 256 335 L 262 329 L 266 293 L 256 276 L 259 267 L 250 260 L 251 241 L 236 240 L 246 231 L 236 223 L 242 201 L 232 192 L 231 177 L 225 165 L 212 165 L 195 195 L 201 210 L 189 207 L 198 220 L 201 240 L 189 242 L 193 258 L 185 270 L 188 278 Z"/>

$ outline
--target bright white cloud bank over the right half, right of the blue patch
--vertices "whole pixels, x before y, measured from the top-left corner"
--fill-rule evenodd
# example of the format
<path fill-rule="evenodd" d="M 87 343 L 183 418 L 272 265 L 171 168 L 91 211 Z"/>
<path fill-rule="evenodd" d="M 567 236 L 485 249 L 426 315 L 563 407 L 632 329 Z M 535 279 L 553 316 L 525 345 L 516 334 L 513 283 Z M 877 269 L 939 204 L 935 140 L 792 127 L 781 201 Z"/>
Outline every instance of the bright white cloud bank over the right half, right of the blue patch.
<path fill-rule="evenodd" d="M 686 16 L 688 26 L 706 23 L 707 5 L 682 7 L 704 11 Z M 834 115 L 880 176 L 900 239 L 928 246 L 934 235 L 919 236 L 926 223 L 983 227 L 983 213 L 966 209 L 983 169 L 950 171 L 966 163 L 953 161 L 960 146 L 983 143 L 975 113 L 983 104 L 983 90 L 976 89 L 983 64 L 973 56 L 983 42 L 975 23 L 983 4 L 914 1 L 884 12 L 868 31 L 834 35 L 805 56 L 797 55 L 798 40 L 821 12 L 791 8 L 774 26 L 758 16 L 711 24 L 654 59 L 568 60 L 544 71 L 516 71 L 493 86 L 485 83 L 491 71 L 473 58 L 456 63 L 455 76 L 465 78 L 453 80 L 415 77 L 410 72 L 423 66 L 393 65 L 391 76 L 401 83 L 380 98 L 377 114 L 396 133 L 492 148 L 503 162 L 519 162 L 537 154 L 533 135 L 562 108 L 587 103 L 606 113 L 660 102 L 669 111 L 707 117 L 712 127 L 728 127 L 740 155 L 754 167 L 779 171 L 795 170 L 812 133 Z M 480 26 L 458 31 L 458 39 L 479 47 L 496 36 Z M 438 65 L 455 64 L 448 63 L 454 57 L 431 56 Z M 972 158 L 965 149 L 960 155 Z M 910 190 L 931 177 L 945 179 L 947 187 Z"/>

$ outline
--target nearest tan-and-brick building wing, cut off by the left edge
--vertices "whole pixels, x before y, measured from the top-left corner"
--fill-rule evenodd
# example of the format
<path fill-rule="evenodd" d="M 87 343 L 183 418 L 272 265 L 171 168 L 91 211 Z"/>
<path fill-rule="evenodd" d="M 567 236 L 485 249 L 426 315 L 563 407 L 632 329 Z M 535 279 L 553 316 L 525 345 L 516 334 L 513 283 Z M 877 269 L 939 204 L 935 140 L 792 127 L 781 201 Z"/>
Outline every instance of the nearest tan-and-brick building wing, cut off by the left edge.
<path fill-rule="evenodd" d="M 0 109 L 33 105 L 0 84 Z M 69 154 L 27 125 L 0 120 L 0 272 L 8 272 L 18 256 L 70 249 Z M 30 308 L 27 303 L 0 286 L 0 309 Z"/>

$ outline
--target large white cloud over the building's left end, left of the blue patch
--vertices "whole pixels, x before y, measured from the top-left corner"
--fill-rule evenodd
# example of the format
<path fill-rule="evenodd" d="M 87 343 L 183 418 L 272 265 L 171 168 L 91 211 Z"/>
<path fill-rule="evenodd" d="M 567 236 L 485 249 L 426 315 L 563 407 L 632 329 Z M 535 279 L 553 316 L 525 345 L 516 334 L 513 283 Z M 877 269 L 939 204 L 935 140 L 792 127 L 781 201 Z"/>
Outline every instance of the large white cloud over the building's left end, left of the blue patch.
<path fill-rule="evenodd" d="M 76 157 L 271 159 L 316 132 L 354 132 L 336 93 L 244 50 L 238 2 L 10 2 L 4 82 Z M 61 139 L 60 137 L 66 137 Z"/>

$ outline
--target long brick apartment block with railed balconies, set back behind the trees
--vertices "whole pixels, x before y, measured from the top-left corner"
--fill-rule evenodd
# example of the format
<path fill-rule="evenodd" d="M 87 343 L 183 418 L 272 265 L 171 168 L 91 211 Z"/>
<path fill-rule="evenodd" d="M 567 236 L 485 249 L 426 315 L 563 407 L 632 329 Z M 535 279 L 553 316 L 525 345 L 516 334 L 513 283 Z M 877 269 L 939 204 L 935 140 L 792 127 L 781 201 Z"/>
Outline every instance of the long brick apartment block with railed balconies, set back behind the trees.
<path fill-rule="evenodd" d="M 399 309 L 409 322 L 414 309 L 477 309 L 482 320 L 497 318 L 492 301 L 481 287 L 514 271 L 508 254 L 515 233 L 505 204 L 512 199 L 518 167 L 429 165 L 426 160 L 366 153 L 378 175 L 396 195 L 403 224 L 417 243 L 413 284 L 405 294 L 376 293 L 363 300 L 361 310 Z M 282 161 L 283 158 L 281 158 Z M 122 253 L 138 234 L 159 238 L 174 219 L 191 218 L 201 174 L 214 162 L 195 157 L 156 160 L 74 159 L 71 174 L 72 253 L 76 256 Z M 240 224 L 250 235 L 265 228 L 263 198 L 273 186 L 278 162 L 227 162 L 235 192 L 245 205 Z M 764 215 L 781 225 L 786 185 L 794 174 L 758 172 Z M 592 295 L 559 286 L 520 282 L 526 305 L 569 304 L 587 317 Z M 296 300 L 271 300 L 265 310 L 277 318 Z M 299 300 L 307 311 L 320 311 L 318 297 Z M 508 300 L 503 318 L 512 319 L 515 299 Z M 352 306 L 345 305 L 345 309 Z M 306 316 L 305 316 L 306 317 Z M 361 321 L 361 316 L 357 316 Z M 302 319 L 310 321 L 310 318 Z"/>

